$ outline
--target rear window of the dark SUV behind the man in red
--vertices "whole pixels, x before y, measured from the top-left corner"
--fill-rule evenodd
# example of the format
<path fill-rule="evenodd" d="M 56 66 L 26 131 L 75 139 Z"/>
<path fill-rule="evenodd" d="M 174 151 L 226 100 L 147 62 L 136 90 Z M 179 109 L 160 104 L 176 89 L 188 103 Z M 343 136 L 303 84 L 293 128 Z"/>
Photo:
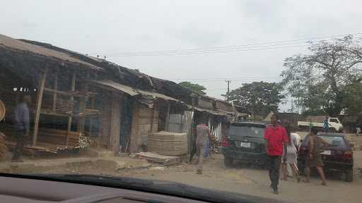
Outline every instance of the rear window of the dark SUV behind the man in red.
<path fill-rule="evenodd" d="M 262 126 L 252 126 L 252 125 L 231 125 L 228 131 L 228 135 L 231 136 L 250 136 L 250 137 L 264 137 L 265 128 Z"/>

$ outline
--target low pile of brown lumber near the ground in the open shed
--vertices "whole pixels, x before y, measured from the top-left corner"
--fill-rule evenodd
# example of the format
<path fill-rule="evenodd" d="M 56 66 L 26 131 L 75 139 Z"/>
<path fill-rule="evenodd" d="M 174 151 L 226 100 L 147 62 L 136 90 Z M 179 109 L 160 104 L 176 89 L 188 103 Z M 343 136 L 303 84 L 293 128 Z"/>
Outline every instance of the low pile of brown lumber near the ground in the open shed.
<path fill-rule="evenodd" d="M 76 147 L 79 140 L 78 132 L 70 132 L 68 145 Z M 84 136 L 84 134 L 81 134 Z M 39 128 L 37 132 L 37 141 L 50 144 L 66 144 L 66 130 L 54 130 L 47 128 Z"/>

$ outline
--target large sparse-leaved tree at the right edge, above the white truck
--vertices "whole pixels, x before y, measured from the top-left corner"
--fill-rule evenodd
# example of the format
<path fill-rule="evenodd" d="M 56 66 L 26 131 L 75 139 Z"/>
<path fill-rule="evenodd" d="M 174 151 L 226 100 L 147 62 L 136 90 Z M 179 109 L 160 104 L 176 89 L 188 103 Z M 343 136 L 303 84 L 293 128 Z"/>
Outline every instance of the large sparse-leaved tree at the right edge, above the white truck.
<path fill-rule="evenodd" d="M 300 98 L 304 111 L 338 116 L 342 110 L 361 112 L 362 47 L 351 35 L 333 42 L 310 42 L 310 54 L 285 59 L 281 76 L 288 93 Z M 358 96 L 358 97 L 357 97 Z M 358 103 L 356 103 L 358 102 Z M 358 104 L 358 107 L 357 107 Z M 352 110 L 355 109 L 355 110 Z"/>

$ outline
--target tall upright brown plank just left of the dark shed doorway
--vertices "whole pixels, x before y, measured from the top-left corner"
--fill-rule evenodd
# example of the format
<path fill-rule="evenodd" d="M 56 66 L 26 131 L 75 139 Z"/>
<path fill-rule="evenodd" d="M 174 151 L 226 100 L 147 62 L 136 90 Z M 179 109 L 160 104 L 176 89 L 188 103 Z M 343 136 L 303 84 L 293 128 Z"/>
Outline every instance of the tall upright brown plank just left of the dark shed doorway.
<path fill-rule="evenodd" d="M 112 122 L 111 122 L 111 150 L 117 154 L 119 152 L 119 135 L 121 132 L 120 124 L 121 124 L 121 102 L 122 100 L 118 97 L 118 95 L 113 96 L 112 102 Z"/>

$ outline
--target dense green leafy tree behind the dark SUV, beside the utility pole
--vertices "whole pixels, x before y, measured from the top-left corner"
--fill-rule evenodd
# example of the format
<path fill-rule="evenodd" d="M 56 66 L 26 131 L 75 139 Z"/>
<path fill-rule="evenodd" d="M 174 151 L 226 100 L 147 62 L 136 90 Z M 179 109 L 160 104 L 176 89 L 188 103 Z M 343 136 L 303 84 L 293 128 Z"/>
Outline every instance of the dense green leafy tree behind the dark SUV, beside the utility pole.
<path fill-rule="evenodd" d="M 244 83 L 242 87 L 232 90 L 222 96 L 226 101 L 250 109 L 255 115 L 259 113 L 278 112 L 279 104 L 284 102 L 285 96 L 281 94 L 283 87 L 276 82 Z"/>

